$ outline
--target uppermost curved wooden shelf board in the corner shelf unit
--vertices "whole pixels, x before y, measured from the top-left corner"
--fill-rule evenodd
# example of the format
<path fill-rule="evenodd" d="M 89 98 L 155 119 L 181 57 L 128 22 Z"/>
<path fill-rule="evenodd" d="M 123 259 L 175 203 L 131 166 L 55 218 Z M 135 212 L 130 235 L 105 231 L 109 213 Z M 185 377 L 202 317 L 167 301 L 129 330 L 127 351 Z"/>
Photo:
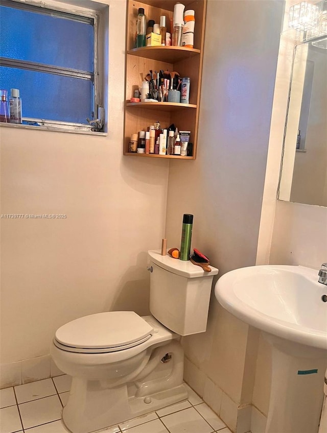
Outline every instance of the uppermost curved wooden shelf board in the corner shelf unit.
<path fill-rule="evenodd" d="M 127 54 L 137 57 L 145 57 L 152 60 L 161 60 L 167 63 L 175 63 L 180 60 L 189 59 L 190 57 L 200 54 L 200 50 L 195 48 L 186 48 L 184 46 L 142 46 L 133 48 Z"/>

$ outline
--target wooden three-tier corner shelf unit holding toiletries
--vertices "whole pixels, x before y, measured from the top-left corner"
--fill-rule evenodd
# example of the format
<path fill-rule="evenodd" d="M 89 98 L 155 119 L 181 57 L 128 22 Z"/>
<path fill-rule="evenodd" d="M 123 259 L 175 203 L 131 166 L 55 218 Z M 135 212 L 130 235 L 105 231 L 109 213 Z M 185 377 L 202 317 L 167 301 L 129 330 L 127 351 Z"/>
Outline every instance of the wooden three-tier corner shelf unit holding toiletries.
<path fill-rule="evenodd" d="M 126 38 L 126 85 L 125 85 L 125 125 L 124 155 L 141 157 L 160 157 L 173 159 L 195 159 L 198 136 L 201 74 L 204 43 L 204 22 L 206 0 L 185 0 L 185 10 L 195 11 L 194 48 L 181 46 L 148 46 L 134 48 L 135 26 L 138 8 L 144 8 L 147 23 L 149 19 L 160 22 L 160 16 L 166 15 L 167 31 L 170 32 L 170 20 L 173 18 L 177 0 L 143 0 L 127 3 L 127 38 Z M 171 33 L 171 32 L 170 32 Z M 134 90 L 141 87 L 149 70 L 178 71 L 180 77 L 190 77 L 190 104 L 168 102 L 131 103 Z M 150 125 L 159 121 L 161 128 L 174 124 L 179 131 L 191 131 L 193 156 L 154 155 L 129 153 L 131 134 L 147 131 Z"/>

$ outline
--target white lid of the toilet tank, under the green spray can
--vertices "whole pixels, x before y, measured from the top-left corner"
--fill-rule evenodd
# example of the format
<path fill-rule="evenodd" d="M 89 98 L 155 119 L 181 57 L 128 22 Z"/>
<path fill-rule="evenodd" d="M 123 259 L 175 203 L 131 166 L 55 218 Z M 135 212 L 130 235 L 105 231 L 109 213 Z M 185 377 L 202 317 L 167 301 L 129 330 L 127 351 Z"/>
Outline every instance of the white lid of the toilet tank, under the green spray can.
<path fill-rule="evenodd" d="M 193 264 L 190 260 L 179 260 L 171 257 L 169 254 L 166 256 L 161 255 L 161 250 L 148 251 L 150 261 L 157 264 L 160 268 L 173 274 L 180 275 L 186 278 L 198 277 L 213 277 L 218 274 L 218 269 L 211 267 L 211 272 L 203 271 L 200 266 Z"/>

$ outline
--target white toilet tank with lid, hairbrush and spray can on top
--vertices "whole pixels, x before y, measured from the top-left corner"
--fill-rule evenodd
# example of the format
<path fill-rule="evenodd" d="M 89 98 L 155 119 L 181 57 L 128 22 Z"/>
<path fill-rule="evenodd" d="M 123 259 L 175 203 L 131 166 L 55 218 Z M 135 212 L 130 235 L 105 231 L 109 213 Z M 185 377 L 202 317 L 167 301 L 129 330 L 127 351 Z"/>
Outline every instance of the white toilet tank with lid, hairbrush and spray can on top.
<path fill-rule="evenodd" d="M 179 335 L 206 330 L 209 301 L 214 275 L 211 266 L 206 272 L 190 260 L 162 256 L 160 250 L 148 251 L 151 314 Z"/>

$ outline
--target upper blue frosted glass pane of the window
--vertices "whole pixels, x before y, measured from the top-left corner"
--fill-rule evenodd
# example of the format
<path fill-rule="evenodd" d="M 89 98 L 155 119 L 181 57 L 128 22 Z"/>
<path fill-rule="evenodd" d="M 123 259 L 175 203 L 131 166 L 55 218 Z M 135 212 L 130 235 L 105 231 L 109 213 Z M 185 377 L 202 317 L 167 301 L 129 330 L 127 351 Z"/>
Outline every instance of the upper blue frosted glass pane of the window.
<path fill-rule="evenodd" d="M 93 70 L 89 23 L 0 6 L 0 29 L 1 57 Z"/>

